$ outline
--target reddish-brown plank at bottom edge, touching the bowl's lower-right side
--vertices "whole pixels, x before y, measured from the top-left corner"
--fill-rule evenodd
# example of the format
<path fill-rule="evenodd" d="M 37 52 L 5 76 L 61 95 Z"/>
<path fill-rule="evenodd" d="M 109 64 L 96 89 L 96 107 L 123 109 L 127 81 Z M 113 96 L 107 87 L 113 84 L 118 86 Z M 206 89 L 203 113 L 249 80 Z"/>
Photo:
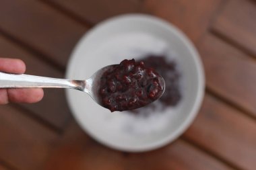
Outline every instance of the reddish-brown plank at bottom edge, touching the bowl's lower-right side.
<path fill-rule="evenodd" d="M 128 157 L 128 169 L 179 169 L 214 170 L 231 169 L 220 161 L 193 148 L 183 140 L 177 140 L 168 146 L 148 153 L 132 154 Z"/>

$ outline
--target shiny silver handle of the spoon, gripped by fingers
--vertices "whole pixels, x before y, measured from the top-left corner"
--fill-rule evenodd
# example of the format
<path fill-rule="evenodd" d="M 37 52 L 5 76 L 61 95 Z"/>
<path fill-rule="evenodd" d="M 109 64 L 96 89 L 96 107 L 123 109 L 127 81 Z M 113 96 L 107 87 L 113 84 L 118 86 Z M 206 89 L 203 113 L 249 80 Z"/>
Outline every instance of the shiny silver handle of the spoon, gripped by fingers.
<path fill-rule="evenodd" d="M 0 72 L 0 88 L 46 87 L 80 89 L 81 83 L 82 81 Z"/>

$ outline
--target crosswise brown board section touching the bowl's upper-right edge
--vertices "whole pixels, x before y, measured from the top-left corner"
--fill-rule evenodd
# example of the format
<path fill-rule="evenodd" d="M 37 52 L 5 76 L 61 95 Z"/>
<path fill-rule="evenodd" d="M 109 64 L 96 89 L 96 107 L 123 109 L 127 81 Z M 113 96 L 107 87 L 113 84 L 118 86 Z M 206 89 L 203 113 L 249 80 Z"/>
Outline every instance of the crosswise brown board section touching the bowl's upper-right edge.
<path fill-rule="evenodd" d="M 221 3 L 222 0 L 146 0 L 145 11 L 168 20 L 196 42 L 211 24 L 212 15 Z"/>

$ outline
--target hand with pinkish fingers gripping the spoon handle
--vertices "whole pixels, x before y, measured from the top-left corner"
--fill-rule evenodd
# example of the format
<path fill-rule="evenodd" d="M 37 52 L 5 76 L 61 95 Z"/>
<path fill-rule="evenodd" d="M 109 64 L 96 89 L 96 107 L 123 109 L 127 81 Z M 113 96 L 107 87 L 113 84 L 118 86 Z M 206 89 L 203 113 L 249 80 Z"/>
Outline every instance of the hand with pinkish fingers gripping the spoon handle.
<path fill-rule="evenodd" d="M 22 74 L 26 71 L 26 65 L 20 59 L 0 58 L 0 71 Z M 43 96 L 44 91 L 41 88 L 0 89 L 0 104 L 9 102 L 36 103 Z"/>

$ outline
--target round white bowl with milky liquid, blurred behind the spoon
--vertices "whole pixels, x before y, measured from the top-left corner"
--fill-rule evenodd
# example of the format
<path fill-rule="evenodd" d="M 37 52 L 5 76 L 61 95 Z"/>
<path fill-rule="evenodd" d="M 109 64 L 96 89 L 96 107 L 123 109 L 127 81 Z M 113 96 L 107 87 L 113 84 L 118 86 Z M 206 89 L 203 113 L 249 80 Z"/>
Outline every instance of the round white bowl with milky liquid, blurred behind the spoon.
<path fill-rule="evenodd" d="M 180 136 L 197 115 L 205 83 L 197 50 L 179 29 L 150 15 L 121 15 L 92 28 L 75 46 L 67 78 L 87 79 L 101 67 L 152 53 L 177 62 L 183 96 L 176 108 L 148 117 L 110 113 L 86 93 L 67 90 L 73 116 L 98 142 L 121 151 L 150 151 Z"/>

